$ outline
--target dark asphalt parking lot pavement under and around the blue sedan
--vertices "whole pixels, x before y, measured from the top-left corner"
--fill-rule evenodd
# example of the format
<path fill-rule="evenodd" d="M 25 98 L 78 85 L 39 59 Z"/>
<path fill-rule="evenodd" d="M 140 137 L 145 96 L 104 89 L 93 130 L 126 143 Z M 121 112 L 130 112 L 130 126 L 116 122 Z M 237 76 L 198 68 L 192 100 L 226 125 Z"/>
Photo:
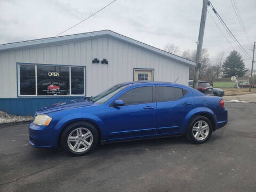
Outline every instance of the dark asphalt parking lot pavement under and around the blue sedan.
<path fill-rule="evenodd" d="M 70 157 L 0 126 L 0 191 L 256 191 L 256 104 L 225 103 L 229 123 L 203 145 L 183 137 L 111 143 Z"/>

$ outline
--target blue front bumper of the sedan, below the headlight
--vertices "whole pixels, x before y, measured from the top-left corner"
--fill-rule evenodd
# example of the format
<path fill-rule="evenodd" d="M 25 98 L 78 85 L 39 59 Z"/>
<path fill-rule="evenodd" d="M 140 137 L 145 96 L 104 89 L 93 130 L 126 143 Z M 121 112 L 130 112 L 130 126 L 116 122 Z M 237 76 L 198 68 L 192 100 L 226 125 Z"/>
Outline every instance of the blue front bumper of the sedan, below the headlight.
<path fill-rule="evenodd" d="M 29 124 L 29 143 L 36 148 L 58 147 L 58 134 L 52 126 Z"/>

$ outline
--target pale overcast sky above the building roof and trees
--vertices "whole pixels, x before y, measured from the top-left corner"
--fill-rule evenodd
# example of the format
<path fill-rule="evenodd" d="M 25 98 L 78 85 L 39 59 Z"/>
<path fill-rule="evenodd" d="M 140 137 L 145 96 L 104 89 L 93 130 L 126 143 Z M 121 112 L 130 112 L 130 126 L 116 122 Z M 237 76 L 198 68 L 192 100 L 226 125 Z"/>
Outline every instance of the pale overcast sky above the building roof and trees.
<path fill-rule="evenodd" d="M 61 31 L 98 11 L 112 0 L 0 0 L 0 44 L 53 37 Z M 249 40 L 239 25 L 231 1 L 211 0 L 239 43 L 252 57 L 256 40 L 256 1 L 234 0 Z M 159 49 L 167 43 L 180 51 L 195 50 L 198 39 L 203 0 L 117 0 L 106 9 L 62 35 L 110 29 Z M 241 53 L 246 68 L 252 59 L 238 48 L 208 7 L 203 47 L 214 62 L 220 52 L 225 57 L 232 50 Z"/>

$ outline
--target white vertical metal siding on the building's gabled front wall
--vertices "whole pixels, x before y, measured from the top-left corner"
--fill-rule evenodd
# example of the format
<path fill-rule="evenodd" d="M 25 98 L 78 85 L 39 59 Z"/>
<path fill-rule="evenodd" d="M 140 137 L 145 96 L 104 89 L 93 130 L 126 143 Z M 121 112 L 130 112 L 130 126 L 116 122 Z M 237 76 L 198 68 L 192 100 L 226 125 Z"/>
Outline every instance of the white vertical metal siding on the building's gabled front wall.
<path fill-rule="evenodd" d="M 92 63 L 93 58 L 108 65 Z M 189 66 L 112 37 L 58 46 L 0 52 L 0 98 L 17 97 L 16 62 L 86 66 L 86 95 L 120 82 L 133 81 L 133 68 L 155 69 L 154 80 L 188 84 Z"/>

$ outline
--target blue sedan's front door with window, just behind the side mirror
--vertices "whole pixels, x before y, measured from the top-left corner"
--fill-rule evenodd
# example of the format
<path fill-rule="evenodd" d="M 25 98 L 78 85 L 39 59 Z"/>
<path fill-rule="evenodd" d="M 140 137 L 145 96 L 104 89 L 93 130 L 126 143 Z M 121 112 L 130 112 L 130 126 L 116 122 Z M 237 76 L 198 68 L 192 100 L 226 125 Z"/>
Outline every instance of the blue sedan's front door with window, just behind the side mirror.
<path fill-rule="evenodd" d="M 119 98 L 124 106 L 106 109 L 106 132 L 109 140 L 128 139 L 154 134 L 156 131 L 156 102 L 154 86 L 127 90 Z"/>

